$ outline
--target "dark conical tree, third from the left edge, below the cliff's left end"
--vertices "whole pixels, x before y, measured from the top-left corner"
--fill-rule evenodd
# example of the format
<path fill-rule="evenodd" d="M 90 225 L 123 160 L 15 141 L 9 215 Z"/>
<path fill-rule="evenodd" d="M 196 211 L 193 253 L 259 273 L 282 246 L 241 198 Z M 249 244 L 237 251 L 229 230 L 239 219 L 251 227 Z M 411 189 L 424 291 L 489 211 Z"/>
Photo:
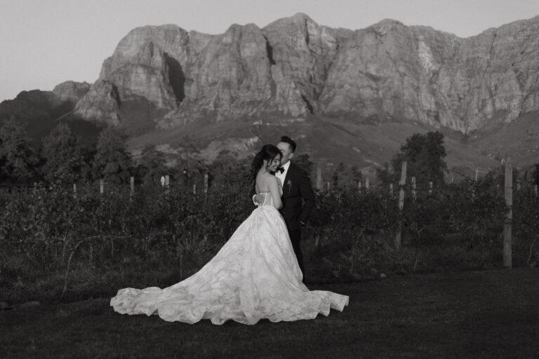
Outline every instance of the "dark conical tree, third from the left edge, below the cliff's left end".
<path fill-rule="evenodd" d="M 127 183 L 132 167 L 131 156 L 122 138 L 113 128 L 102 130 L 93 160 L 94 178 L 102 178 L 114 184 Z"/>

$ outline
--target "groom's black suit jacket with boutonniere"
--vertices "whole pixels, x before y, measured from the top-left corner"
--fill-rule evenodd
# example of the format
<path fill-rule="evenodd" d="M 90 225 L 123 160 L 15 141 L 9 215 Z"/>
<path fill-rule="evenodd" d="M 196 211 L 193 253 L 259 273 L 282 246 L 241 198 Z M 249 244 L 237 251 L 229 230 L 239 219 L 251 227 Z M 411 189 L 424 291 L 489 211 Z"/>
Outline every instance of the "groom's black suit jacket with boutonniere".
<path fill-rule="evenodd" d="M 255 189 L 251 191 L 251 197 Z M 283 195 L 281 196 L 283 208 L 279 210 L 284 218 L 288 231 L 301 228 L 301 222 L 307 223 L 309 216 L 316 205 L 311 180 L 307 172 L 290 163 L 283 182 Z"/>

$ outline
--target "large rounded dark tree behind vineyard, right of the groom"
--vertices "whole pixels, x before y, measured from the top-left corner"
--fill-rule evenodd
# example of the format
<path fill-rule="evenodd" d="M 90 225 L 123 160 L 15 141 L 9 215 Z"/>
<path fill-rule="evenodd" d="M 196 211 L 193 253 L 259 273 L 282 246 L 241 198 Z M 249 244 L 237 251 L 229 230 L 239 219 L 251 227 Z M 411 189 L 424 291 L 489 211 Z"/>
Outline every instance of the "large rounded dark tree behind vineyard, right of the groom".
<path fill-rule="evenodd" d="M 444 147 L 444 135 L 436 132 L 425 134 L 415 133 L 406 138 L 401 146 L 401 152 L 394 156 L 392 166 L 400 173 L 401 163 L 406 161 L 407 176 L 415 176 L 418 183 L 425 185 L 429 181 L 434 183 L 444 182 L 447 164 L 444 161 L 446 149 Z M 396 173 L 395 176 L 399 176 Z M 397 177 L 394 180 L 398 180 Z"/>

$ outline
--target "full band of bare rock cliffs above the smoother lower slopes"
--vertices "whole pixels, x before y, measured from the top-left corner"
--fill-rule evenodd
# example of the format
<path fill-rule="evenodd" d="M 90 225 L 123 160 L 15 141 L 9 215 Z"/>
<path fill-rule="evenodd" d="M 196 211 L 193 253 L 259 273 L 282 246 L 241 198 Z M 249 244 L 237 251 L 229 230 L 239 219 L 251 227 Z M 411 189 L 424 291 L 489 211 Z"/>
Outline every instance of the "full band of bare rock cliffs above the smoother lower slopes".
<path fill-rule="evenodd" d="M 539 109 L 538 58 L 539 17 L 467 39 L 394 20 L 331 29 L 301 13 L 218 35 L 147 26 L 121 39 L 75 113 L 128 126 L 126 103 L 143 100 L 161 128 L 323 114 L 469 133 Z"/>

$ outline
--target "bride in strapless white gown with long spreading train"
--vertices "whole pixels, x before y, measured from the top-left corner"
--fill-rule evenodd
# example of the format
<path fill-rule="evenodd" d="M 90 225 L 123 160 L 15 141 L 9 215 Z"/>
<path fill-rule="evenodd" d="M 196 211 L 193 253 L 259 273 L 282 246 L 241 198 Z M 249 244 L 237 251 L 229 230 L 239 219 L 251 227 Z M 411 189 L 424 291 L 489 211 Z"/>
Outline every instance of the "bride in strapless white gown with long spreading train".
<path fill-rule="evenodd" d="M 348 297 L 324 290 L 308 290 L 294 255 L 286 224 L 279 213 L 281 185 L 272 175 L 281 151 L 266 144 L 253 160 L 251 175 L 265 201 L 232 234 L 200 271 L 161 289 L 124 288 L 110 300 L 122 314 L 157 314 L 167 321 L 197 323 L 210 319 L 253 325 L 313 319 L 330 309 L 342 311 Z"/>

